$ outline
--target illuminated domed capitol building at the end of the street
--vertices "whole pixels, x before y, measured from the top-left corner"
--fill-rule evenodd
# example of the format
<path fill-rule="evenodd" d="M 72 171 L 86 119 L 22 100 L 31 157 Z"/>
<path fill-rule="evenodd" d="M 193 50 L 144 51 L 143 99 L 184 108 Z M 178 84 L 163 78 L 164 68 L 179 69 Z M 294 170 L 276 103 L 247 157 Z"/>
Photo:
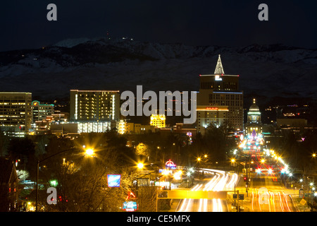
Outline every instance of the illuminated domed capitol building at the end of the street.
<path fill-rule="evenodd" d="M 249 108 L 247 123 L 244 125 L 244 134 L 246 136 L 258 136 L 262 133 L 262 130 L 261 112 L 258 105 L 256 105 L 256 100 L 253 99 L 253 104 Z"/>

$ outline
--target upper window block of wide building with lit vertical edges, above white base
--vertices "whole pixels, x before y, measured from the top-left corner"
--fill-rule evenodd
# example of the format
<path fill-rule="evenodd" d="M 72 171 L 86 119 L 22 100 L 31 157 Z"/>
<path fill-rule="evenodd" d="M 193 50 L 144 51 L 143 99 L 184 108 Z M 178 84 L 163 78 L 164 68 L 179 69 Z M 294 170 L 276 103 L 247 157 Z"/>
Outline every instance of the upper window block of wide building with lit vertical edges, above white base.
<path fill-rule="evenodd" d="M 70 120 L 118 121 L 119 119 L 118 90 L 70 90 Z"/>

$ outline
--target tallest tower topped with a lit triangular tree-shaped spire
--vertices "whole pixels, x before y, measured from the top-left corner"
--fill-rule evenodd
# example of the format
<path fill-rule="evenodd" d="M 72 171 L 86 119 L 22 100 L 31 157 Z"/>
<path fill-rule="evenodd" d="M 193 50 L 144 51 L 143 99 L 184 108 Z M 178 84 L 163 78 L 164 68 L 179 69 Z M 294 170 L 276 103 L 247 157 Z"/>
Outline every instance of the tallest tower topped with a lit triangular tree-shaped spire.
<path fill-rule="evenodd" d="M 197 93 L 197 131 L 204 133 L 209 124 L 225 124 L 243 131 L 243 91 L 239 90 L 239 75 L 226 75 L 220 55 L 211 75 L 199 75 Z"/>

